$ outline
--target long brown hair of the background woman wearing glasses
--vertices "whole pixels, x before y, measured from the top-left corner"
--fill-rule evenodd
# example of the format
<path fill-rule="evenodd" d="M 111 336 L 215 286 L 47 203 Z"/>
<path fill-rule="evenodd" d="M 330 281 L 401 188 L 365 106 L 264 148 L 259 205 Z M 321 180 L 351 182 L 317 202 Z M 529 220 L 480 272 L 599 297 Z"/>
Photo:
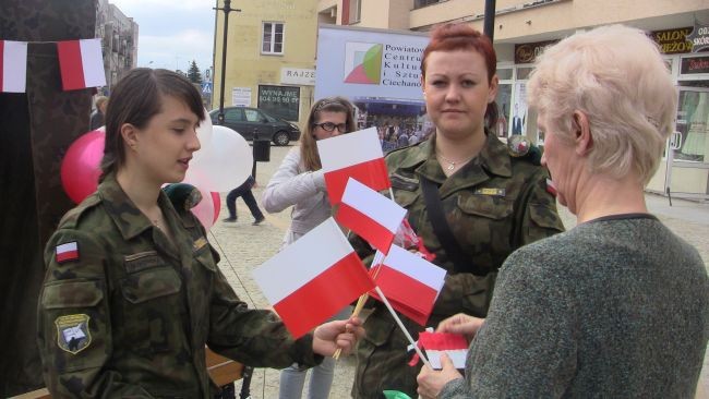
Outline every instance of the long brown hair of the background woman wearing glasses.
<path fill-rule="evenodd" d="M 357 130 L 354 123 L 354 106 L 345 97 L 325 97 L 321 98 L 310 109 L 308 116 L 308 124 L 305 132 L 300 138 L 300 158 L 305 167 L 305 170 L 314 171 L 320 170 L 323 165 L 320 161 L 320 154 L 317 153 L 317 144 L 315 144 L 315 135 L 313 134 L 314 125 L 319 122 L 320 112 L 343 112 L 347 114 L 345 124 L 346 133 Z"/>

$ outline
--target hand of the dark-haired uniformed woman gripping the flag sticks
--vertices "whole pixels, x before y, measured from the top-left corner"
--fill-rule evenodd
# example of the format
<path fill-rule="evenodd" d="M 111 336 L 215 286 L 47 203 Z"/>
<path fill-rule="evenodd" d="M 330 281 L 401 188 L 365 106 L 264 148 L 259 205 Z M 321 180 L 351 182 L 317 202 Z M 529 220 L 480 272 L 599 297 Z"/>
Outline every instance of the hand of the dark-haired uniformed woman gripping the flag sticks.
<path fill-rule="evenodd" d="M 349 354 L 357 340 L 363 336 L 364 327 L 359 317 L 325 323 L 313 332 L 313 351 L 324 356 L 332 356 L 339 348 L 343 354 Z"/>

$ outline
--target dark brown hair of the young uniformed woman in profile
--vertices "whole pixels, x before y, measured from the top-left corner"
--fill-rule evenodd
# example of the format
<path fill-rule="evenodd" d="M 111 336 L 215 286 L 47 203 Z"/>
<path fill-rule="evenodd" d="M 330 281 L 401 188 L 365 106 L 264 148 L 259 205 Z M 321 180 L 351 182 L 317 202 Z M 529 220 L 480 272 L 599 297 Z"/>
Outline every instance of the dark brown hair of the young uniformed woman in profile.
<path fill-rule="evenodd" d="M 118 82 L 106 109 L 106 146 L 99 182 L 125 162 L 121 126 L 130 123 L 144 129 L 163 109 L 163 96 L 183 101 L 197 116 L 205 117 L 200 92 L 187 77 L 168 70 L 136 68 Z"/>

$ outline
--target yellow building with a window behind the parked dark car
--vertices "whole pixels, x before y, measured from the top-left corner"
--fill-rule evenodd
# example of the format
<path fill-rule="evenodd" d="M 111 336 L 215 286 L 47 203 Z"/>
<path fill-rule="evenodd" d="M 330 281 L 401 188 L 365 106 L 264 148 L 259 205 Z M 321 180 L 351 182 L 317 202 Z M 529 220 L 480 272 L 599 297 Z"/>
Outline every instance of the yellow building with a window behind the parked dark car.
<path fill-rule="evenodd" d="M 217 1 L 218 7 L 224 1 Z M 224 106 L 255 107 L 301 130 L 313 101 L 317 0 L 241 0 L 229 15 Z M 213 108 L 221 96 L 224 12 L 215 26 Z M 227 116 L 228 117 L 228 116 Z"/>

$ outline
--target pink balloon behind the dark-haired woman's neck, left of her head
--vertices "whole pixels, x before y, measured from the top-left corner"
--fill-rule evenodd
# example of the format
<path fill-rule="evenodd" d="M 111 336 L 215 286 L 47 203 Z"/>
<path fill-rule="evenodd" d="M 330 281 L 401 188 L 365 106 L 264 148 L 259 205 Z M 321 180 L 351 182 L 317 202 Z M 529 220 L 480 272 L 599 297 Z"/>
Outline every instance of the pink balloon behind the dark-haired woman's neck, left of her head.
<path fill-rule="evenodd" d="M 79 204 L 96 191 L 101 174 L 106 134 L 94 130 L 76 138 L 61 160 L 61 185 L 71 201 Z"/>

